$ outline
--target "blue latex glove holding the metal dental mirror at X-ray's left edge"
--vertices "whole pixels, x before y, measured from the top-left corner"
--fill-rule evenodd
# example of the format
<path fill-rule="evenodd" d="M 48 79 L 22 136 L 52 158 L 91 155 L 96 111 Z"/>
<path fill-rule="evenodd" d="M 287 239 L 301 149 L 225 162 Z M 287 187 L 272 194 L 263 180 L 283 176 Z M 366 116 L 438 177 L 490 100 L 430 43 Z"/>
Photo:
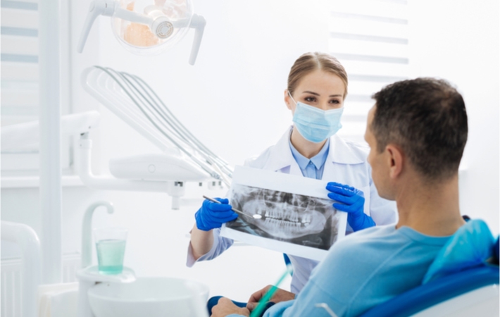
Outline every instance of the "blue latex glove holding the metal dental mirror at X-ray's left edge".
<path fill-rule="evenodd" d="M 235 220 L 238 214 L 232 211 L 232 206 L 227 199 L 215 198 L 222 204 L 217 204 L 205 199 L 201 208 L 194 214 L 196 219 L 196 228 L 209 231 L 213 228 L 220 228 L 223 223 Z"/>

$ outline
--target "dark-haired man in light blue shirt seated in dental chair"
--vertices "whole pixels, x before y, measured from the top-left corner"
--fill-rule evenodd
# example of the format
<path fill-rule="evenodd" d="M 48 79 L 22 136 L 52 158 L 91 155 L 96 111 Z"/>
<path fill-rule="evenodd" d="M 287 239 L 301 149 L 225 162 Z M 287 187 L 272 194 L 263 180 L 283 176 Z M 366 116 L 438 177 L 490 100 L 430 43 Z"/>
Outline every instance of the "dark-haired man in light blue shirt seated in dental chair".
<path fill-rule="evenodd" d="M 358 316 L 410 290 L 454 232 L 464 224 L 458 209 L 458 165 L 467 141 L 465 104 L 444 80 L 417 78 L 377 92 L 368 113 L 368 162 L 380 197 L 395 200 L 399 221 L 340 240 L 315 268 L 294 300 L 278 290 L 274 316 Z M 249 316 L 267 287 L 246 308 L 222 298 L 212 316 Z"/>

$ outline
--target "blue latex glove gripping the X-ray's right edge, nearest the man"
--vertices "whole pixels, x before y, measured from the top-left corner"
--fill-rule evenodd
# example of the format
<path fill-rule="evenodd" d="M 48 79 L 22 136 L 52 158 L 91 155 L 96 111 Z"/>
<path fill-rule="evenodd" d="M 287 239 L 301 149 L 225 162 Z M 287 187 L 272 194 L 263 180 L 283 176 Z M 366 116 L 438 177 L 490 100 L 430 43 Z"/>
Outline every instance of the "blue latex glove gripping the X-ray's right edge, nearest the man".
<path fill-rule="evenodd" d="M 338 182 L 329 182 L 326 189 L 330 191 L 328 197 L 339 203 L 334 203 L 333 208 L 347 213 L 347 222 L 355 232 L 375 226 L 375 221 L 363 211 L 365 197 L 361 190 Z"/>

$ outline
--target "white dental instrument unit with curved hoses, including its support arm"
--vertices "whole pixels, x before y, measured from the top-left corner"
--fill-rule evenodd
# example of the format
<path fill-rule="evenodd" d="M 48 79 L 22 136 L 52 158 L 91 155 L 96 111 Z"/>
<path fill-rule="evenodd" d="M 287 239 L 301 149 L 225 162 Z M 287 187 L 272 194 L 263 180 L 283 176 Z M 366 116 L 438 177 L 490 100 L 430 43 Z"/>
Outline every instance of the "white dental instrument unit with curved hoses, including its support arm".
<path fill-rule="evenodd" d="M 209 189 L 230 186 L 229 164 L 196 139 L 139 77 L 94 66 L 82 73 L 82 86 L 163 152 L 113 159 L 109 169 L 115 178 L 94 176 L 90 163 L 92 141 L 88 131 L 82 132 L 77 171 L 85 185 L 105 190 L 166 192 L 173 197 L 173 209 L 179 208 L 185 182 L 207 182 Z M 154 173 L 150 173 L 149 163 L 154 165 Z M 165 164 L 170 167 L 165 168 Z"/>

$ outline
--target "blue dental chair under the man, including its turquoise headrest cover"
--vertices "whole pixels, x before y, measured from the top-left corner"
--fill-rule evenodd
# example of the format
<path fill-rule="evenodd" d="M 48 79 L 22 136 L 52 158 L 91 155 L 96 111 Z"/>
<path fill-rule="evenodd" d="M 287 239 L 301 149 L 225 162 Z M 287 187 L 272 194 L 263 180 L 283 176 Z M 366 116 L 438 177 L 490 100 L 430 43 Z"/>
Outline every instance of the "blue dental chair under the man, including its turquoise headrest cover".
<path fill-rule="evenodd" d="M 499 243 L 486 223 L 472 220 L 439 252 L 422 285 L 358 317 L 500 316 Z M 210 310 L 219 298 L 208 301 Z M 235 304 L 242 307 L 245 303 Z"/>

